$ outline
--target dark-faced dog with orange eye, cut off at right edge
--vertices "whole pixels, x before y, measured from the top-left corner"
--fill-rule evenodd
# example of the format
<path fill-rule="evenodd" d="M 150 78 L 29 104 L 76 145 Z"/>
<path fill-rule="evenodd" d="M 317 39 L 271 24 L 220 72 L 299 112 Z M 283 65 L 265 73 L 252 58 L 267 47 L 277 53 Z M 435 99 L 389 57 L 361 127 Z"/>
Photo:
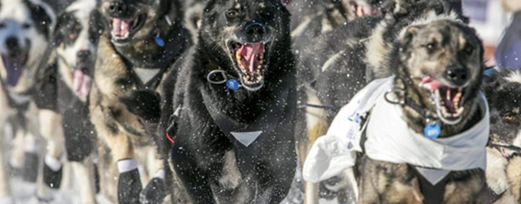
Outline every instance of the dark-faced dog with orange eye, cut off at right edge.
<path fill-rule="evenodd" d="M 521 185 L 521 72 L 501 71 L 486 77 L 483 91 L 490 104 L 487 145 L 487 196 L 490 203 L 518 203 Z"/>

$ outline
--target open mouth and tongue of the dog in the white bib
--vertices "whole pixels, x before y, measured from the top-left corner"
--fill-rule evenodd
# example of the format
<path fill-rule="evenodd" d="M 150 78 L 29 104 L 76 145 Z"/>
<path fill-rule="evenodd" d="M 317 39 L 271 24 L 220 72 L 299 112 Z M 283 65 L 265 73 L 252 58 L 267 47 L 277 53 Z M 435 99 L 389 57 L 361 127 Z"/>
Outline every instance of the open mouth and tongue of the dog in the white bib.
<path fill-rule="evenodd" d="M 447 124 L 456 124 L 461 121 L 465 108 L 465 92 L 461 87 L 450 87 L 432 77 L 421 79 L 420 87 L 430 91 L 432 103 L 440 120 Z"/>

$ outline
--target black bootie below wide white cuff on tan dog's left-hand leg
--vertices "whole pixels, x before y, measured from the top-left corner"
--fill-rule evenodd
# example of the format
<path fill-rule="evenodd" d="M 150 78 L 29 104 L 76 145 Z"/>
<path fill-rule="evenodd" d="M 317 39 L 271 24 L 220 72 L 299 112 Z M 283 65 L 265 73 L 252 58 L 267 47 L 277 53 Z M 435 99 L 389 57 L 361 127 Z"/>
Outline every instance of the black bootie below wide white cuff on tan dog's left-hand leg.
<path fill-rule="evenodd" d="M 119 174 L 118 202 L 120 204 L 139 204 L 141 181 L 138 169 Z"/>

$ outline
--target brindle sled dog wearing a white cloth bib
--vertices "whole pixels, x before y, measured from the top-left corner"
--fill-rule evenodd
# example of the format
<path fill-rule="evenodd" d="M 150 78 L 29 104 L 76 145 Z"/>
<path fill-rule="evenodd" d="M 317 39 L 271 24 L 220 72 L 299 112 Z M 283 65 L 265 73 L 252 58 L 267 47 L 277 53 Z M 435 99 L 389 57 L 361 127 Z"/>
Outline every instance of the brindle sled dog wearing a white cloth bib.
<path fill-rule="evenodd" d="M 340 110 L 310 150 L 304 179 L 350 169 L 358 203 L 478 202 L 490 121 L 475 30 L 439 16 L 410 23 L 390 45 L 378 69 L 394 75 Z"/>

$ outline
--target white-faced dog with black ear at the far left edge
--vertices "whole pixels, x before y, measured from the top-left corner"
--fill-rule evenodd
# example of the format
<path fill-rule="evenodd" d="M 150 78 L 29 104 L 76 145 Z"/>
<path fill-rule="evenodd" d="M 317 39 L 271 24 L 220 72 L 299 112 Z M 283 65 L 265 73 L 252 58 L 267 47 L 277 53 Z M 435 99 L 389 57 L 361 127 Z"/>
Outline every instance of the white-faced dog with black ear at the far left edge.
<path fill-rule="evenodd" d="M 14 169 L 23 168 L 24 180 L 29 182 L 35 182 L 38 176 L 34 171 L 39 162 L 36 136 L 52 134 L 49 129 L 54 126 L 46 122 L 53 118 L 38 120 L 45 114 L 39 110 L 45 104 L 43 100 L 52 96 L 35 99 L 35 81 L 55 18 L 54 11 L 40 1 L 0 1 L 0 203 L 13 203 L 7 176 L 7 123 L 12 124 L 15 135 L 9 164 Z M 40 125 L 49 129 L 40 129 Z"/>

